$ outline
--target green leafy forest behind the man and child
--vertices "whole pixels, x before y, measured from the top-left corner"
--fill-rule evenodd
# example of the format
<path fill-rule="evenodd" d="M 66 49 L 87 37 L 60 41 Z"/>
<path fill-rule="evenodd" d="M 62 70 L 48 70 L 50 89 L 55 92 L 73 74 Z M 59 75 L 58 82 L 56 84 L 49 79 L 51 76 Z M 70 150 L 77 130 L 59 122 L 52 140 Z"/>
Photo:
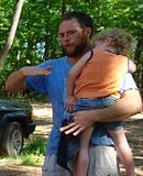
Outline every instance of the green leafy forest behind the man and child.
<path fill-rule="evenodd" d="M 0 52 L 2 52 L 19 0 L 0 0 Z M 94 19 L 95 34 L 107 28 L 122 28 L 133 35 L 130 58 L 138 64 L 133 75 L 143 95 L 143 0 L 23 0 L 14 40 L 0 70 L 0 88 L 13 70 L 63 55 L 58 22 L 72 10 Z"/>

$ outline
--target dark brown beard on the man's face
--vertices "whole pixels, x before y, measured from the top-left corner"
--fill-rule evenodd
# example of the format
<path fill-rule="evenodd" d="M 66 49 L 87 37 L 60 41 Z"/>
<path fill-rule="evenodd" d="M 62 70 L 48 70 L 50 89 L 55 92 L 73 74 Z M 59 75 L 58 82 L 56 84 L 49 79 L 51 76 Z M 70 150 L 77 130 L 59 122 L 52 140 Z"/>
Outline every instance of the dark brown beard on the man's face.
<path fill-rule="evenodd" d="M 80 43 L 79 45 L 77 45 L 75 47 L 75 50 L 70 53 L 67 53 L 67 51 L 64 48 L 64 52 L 65 54 L 68 56 L 68 57 L 76 57 L 78 55 L 81 55 L 81 53 L 85 51 L 85 48 L 87 47 L 87 41 Z"/>

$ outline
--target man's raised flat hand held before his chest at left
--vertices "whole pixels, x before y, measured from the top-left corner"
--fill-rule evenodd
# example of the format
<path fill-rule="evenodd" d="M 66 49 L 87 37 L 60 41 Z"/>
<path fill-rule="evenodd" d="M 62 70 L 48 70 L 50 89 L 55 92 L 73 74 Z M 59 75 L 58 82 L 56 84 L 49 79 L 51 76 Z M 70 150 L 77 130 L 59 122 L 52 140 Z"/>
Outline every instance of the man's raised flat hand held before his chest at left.
<path fill-rule="evenodd" d="M 51 74 L 52 66 L 41 68 L 38 66 L 28 66 L 20 69 L 23 76 L 47 76 Z"/>

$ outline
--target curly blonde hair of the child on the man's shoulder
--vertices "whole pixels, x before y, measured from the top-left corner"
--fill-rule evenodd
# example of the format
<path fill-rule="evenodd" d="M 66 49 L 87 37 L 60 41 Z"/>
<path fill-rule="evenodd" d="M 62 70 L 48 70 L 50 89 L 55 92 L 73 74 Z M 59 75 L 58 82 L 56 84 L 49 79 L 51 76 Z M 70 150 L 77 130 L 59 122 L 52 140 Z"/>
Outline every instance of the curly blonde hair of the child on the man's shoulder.
<path fill-rule="evenodd" d="M 117 54 L 129 55 L 132 44 L 132 35 L 122 29 L 107 29 L 96 35 L 96 41 L 106 41 L 110 38 L 109 44 L 116 50 Z"/>

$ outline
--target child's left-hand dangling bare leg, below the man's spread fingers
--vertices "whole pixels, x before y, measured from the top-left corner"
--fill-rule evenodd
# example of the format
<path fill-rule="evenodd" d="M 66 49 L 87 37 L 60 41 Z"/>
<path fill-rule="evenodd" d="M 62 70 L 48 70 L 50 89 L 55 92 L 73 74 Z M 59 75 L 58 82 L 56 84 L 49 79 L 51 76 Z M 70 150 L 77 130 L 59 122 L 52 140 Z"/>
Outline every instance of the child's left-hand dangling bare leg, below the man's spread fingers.
<path fill-rule="evenodd" d="M 76 158 L 76 167 L 74 176 L 86 176 L 88 170 L 88 146 L 94 128 L 88 128 L 80 135 L 80 151 Z"/>

